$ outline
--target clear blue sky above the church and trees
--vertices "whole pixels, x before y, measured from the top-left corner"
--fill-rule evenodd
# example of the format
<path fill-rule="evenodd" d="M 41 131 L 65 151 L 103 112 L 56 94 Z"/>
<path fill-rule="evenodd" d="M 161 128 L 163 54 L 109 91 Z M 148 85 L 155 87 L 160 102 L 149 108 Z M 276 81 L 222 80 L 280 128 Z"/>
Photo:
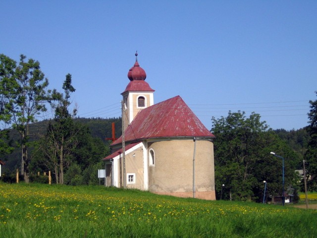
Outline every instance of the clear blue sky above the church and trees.
<path fill-rule="evenodd" d="M 316 0 L 0 0 L 0 53 L 72 74 L 80 117 L 119 117 L 138 51 L 155 103 L 180 95 L 211 129 L 229 110 L 308 125 L 317 91 Z M 52 117 L 48 116 L 48 117 Z"/>

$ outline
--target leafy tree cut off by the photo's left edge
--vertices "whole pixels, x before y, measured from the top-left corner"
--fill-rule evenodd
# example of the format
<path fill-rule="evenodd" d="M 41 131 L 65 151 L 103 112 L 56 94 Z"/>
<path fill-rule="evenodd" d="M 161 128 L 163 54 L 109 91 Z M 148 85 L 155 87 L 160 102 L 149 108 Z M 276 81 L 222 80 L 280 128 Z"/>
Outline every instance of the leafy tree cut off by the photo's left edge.
<path fill-rule="evenodd" d="M 11 122 L 13 99 L 17 89 L 14 80 L 16 62 L 0 54 L 0 155 L 9 154 L 13 148 L 6 143 Z"/>

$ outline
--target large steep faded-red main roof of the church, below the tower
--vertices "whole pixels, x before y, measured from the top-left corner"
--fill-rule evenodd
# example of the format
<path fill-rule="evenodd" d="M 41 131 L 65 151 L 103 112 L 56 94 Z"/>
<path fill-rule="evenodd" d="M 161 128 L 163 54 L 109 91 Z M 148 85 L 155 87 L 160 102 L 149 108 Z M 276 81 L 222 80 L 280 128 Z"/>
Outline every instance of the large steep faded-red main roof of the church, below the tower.
<path fill-rule="evenodd" d="M 159 137 L 206 137 L 214 135 L 180 96 L 143 109 L 126 128 L 125 141 Z M 122 136 L 112 145 L 122 143 Z"/>

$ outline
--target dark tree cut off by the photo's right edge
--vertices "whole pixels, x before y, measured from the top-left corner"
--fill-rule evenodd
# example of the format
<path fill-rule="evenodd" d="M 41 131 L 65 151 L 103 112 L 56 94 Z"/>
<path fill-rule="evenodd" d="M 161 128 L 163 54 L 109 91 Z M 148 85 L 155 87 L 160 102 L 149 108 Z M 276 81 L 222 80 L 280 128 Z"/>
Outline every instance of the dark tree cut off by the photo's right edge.
<path fill-rule="evenodd" d="M 317 91 L 315 93 L 317 95 Z M 312 178 L 308 181 L 309 190 L 317 191 L 317 100 L 310 100 L 309 103 L 311 110 L 308 113 L 307 131 L 310 138 L 304 159 L 307 161 L 307 176 Z"/>

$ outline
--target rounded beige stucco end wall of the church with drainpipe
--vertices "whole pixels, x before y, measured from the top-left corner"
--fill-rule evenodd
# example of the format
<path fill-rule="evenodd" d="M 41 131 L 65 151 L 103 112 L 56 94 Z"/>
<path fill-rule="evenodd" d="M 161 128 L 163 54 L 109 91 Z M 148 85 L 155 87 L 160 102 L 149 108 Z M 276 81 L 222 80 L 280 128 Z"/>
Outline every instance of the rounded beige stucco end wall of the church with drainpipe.
<path fill-rule="evenodd" d="M 160 194 L 193 197 L 192 139 L 148 144 L 155 151 L 155 166 L 149 166 L 149 190 Z M 195 197 L 214 200 L 213 143 L 196 141 Z"/>

